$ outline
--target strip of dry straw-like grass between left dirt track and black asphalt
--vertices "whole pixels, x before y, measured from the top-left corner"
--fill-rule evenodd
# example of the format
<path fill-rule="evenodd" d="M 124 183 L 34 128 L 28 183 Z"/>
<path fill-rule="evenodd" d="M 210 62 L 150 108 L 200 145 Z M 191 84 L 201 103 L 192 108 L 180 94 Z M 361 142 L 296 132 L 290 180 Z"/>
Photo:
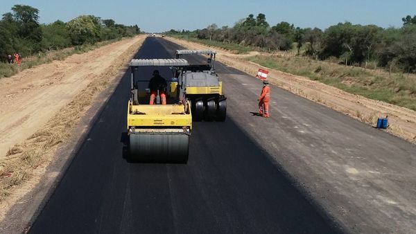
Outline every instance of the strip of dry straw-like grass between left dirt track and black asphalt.
<path fill-rule="evenodd" d="M 143 41 L 135 43 L 128 48 L 128 53 L 114 60 L 114 64 L 100 75 L 92 78 L 92 82 L 78 93 L 66 107 L 49 120 L 42 129 L 35 132 L 24 143 L 12 147 L 5 159 L 0 161 L 0 201 L 10 195 L 12 188 L 19 186 L 33 175 L 40 165 L 50 161 L 50 155 L 57 149 L 60 143 L 64 143 L 71 136 L 71 132 L 78 124 L 81 116 L 92 105 L 94 98 L 106 89 L 111 80 L 119 75 L 137 48 Z"/>

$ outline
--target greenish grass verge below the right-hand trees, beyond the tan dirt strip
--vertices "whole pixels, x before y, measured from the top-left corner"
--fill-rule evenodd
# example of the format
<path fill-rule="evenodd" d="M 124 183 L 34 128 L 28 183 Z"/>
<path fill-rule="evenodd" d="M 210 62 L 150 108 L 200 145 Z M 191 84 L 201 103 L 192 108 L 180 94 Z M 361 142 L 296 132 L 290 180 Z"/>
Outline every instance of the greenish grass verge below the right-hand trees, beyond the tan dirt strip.
<path fill-rule="evenodd" d="M 246 60 L 416 111 L 416 75 L 365 70 L 304 57 L 256 55 Z"/>

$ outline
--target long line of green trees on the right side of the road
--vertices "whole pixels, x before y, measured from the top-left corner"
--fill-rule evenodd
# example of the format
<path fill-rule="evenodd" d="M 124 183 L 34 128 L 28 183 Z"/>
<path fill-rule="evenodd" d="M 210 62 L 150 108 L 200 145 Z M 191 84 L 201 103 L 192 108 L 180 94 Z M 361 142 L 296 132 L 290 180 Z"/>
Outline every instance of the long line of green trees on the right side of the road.
<path fill-rule="evenodd" d="M 242 46 L 256 46 L 268 51 L 295 49 L 298 55 L 325 60 L 336 58 L 345 64 L 362 65 L 375 62 L 378 66 L 395 67 L 416 72 L 416 16 L 402 19 L 401 28 L 349 22 L 320 28 L 295 27 L 286 21 L 270 26 L 266 15 L 248 15 L 233 27 L 218 28 L 211 24 L 198 30 L 170 30 L 166 34 L 182 34 Z"/>

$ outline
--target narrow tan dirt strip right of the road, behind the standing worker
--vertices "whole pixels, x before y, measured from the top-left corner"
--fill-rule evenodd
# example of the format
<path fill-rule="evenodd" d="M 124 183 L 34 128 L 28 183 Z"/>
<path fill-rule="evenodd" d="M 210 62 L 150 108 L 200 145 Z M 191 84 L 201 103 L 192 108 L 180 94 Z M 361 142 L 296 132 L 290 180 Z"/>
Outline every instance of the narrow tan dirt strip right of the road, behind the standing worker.
<path fill-rule="evenodd" d="M 209 48 L 209 46 L 187 42 L 183 39 L 165 38 L 189 49 Z M 249 55 L 236 55 L 220 48 L 215 49 L 220 51 L 217 55 L 218 61 L 250 75 L 256 75 L 259 68 L 268 69 L 254 62 L 244 60 Z M 387 132 L 404 138 L 406 141 L 416 143 L 416 111 L 347 93 L 336 87 L 331 87 L 299 75 L 284 73 L 275 69 L 268 70 L 270 71 L 268 80 L 278 87 L 309 100 L 319 102 L 369 125 L 374 126 L 378 117 L 388 116 L 390 127 L 387 129 Z"/>

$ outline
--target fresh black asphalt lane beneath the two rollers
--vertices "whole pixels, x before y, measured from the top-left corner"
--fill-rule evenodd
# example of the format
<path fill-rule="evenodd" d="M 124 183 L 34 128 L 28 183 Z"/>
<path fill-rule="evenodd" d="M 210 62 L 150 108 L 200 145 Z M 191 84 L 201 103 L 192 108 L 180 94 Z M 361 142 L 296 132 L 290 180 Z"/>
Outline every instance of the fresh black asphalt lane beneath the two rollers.
<path fill-rule="evenodd" d="M 161 40 L 136 57 L 173 57 Z M 193 123 L 186 165 L 130 163 L 129 92 L 126 73 L 30 233 L 338 232 L 230 118 Z"/>

